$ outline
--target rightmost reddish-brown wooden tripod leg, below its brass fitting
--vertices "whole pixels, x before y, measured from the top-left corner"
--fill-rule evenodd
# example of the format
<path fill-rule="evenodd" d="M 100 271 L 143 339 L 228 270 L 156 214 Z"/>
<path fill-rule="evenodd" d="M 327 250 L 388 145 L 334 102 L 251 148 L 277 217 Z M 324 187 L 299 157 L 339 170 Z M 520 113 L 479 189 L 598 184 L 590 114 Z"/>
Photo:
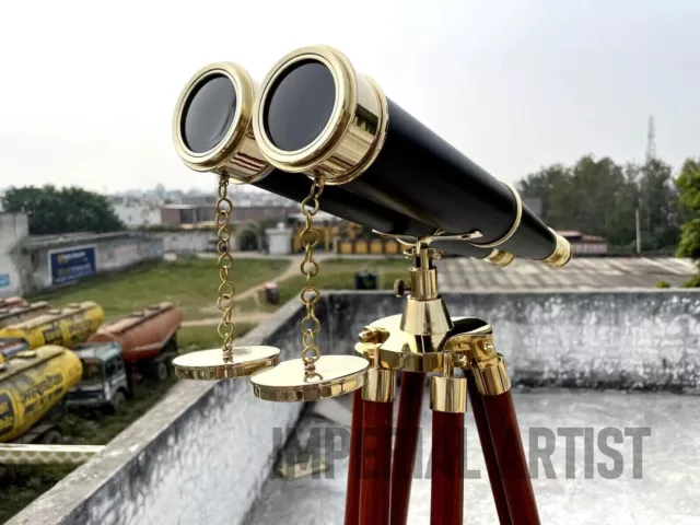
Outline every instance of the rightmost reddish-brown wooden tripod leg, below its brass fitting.
<path fill-rule="evenodd" d="M 503 480 L 503 489 L 513 525 L 538 525 L 537 502 L 527 470 L 521 431 L 515 417 L 511 390 L 494 396 L 485 395 L 493 450 Z"/>

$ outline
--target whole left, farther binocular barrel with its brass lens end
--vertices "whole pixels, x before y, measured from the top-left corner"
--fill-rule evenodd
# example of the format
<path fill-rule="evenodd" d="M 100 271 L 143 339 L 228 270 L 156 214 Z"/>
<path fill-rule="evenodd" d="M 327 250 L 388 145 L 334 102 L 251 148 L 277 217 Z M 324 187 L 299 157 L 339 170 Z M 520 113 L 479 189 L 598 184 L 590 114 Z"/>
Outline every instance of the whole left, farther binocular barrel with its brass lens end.
<path fill-rule="evenodd" d="M 308 178 L 273 168 L 256 143 L 252 125 L 254 91 L 248 73 L 233 62 L 199 70 L 186 84 L 176 106 L 175 148 L 195 171 L 225 173 L 234 183 L 252 184 L 301 202 L 308 195 Z M 324 189 L 320 209 L 387 234 L 423 237 L 435 232 L 431 224 L 340 186 Z M 446 253 L 475 258 L 493 252 L 456 241 L 435 245 Z"/>

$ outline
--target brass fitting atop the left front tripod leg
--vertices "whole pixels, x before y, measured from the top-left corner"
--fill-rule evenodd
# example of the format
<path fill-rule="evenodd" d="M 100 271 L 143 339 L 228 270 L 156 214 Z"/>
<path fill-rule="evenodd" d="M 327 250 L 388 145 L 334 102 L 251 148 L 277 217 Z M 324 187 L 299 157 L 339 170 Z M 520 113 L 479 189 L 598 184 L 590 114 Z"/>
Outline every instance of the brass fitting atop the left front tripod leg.
<path fill-rule="evenodd" d="M 370 360 L 362 399 L 374 402 L 392 402 L 396 398 L 396 372 L 382 368 L 380 348 L 389 337 L 388 330 L 375 326 L 365 326 L 360 334 L 364 357 Z"/>

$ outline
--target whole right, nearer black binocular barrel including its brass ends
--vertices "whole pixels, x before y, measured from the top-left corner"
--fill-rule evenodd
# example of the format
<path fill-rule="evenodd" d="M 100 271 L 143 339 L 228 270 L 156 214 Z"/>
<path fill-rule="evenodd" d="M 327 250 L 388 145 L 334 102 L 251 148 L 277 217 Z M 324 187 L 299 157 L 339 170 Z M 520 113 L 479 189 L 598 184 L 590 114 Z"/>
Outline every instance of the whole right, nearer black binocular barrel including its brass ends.
<path fill-rule="evenodd" d="M 324 174 L 326 184 L 470 243 L 551 266 L 571 247 L 512 186 L 500 182 L 388 100 L 340 51 L 298 49 L 268 73 L 255 102 L 262 155 L 289 173 Z"/>

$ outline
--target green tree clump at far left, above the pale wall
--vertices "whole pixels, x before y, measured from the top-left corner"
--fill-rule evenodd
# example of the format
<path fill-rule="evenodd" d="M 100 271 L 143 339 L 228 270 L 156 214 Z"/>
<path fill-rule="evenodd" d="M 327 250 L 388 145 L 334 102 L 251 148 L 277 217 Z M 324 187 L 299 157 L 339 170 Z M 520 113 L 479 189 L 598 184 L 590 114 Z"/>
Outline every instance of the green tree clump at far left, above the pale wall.
<path fill-rule="evenodd" d="M 81 188 L 12 187 L 2 197 L 5 211 L 26 213 L 33 235 L 114 232 L 125 226 L 106 197 Z"/>

